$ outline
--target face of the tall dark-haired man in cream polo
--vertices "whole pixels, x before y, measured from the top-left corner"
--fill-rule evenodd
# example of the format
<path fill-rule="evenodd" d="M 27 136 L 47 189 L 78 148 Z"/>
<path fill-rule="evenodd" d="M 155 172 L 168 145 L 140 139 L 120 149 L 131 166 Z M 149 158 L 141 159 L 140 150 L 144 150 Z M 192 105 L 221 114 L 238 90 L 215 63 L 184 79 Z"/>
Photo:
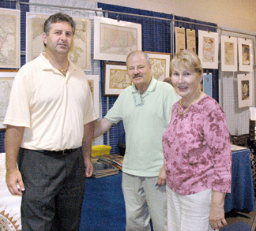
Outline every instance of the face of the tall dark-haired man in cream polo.
<path fill-rule="evenodd" d="M 73 43 L 72 27 L 66 21 L 51 24 L 49 35 L 43 33 L 46 50 L 53 54 L 68 54 Z"/>

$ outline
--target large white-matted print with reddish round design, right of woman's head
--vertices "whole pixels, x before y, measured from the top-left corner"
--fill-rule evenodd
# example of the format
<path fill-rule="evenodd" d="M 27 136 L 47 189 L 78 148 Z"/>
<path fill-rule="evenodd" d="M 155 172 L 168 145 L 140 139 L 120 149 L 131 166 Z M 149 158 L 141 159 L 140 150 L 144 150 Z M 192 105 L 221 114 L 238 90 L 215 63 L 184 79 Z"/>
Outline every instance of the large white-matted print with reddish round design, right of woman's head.
<path fill-rule="evenodd" d="M 218 49 L 218 33 L 198 30 L 198 57 L 202 68 L 218 69 Z"/>

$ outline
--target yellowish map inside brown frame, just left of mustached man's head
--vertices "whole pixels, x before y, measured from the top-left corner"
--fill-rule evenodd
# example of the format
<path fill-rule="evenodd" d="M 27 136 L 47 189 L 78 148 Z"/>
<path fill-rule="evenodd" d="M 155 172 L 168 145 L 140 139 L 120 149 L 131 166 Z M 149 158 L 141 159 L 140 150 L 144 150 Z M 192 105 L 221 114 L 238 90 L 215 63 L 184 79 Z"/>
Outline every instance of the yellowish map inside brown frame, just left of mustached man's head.
<path fill-rule="evenodd" d="M 131 85 L 127 70 L 110 69 L 110 89 L 125 89 Z"/>

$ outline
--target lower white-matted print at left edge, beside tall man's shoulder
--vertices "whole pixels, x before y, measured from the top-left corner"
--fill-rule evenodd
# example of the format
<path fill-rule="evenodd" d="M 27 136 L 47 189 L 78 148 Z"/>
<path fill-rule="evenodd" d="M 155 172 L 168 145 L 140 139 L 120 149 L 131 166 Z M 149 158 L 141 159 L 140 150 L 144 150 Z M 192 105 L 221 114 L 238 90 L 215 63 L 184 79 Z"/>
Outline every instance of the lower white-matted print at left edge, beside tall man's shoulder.
<path fill-rule="evenodd" d="M 12 84 L 13 78 L 0 78 L 0 121 L 3 121 L 6 117 Z"/>

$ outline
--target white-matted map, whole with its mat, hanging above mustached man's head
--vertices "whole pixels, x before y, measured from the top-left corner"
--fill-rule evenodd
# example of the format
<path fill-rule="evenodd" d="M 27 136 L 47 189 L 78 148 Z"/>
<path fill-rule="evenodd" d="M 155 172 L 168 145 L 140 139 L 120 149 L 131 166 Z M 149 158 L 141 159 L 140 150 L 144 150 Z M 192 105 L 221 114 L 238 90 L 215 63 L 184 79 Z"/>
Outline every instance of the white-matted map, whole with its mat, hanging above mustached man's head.
<path fill-rule="evenodd" d="M 94 59 L 126 61 L 131 51 L 141 50 L 141 24 L 94 17 Z"/>

